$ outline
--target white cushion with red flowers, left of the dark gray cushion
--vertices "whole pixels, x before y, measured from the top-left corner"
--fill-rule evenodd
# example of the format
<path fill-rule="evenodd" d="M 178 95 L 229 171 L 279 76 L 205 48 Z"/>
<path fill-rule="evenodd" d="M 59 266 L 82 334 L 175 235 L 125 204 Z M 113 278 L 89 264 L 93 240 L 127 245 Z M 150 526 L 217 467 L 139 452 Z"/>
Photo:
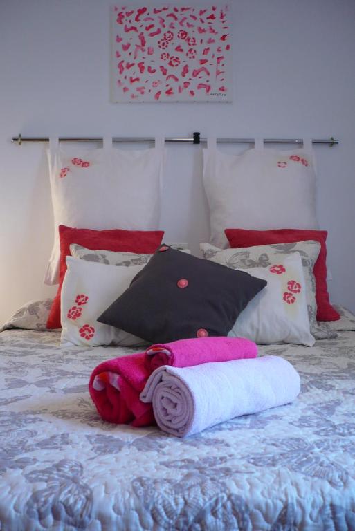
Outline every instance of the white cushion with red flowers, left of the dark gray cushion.
<path fill-rule="evenodd" d="M 61 297 L 62 345 L 143 344 L 139 339 L 96 319 L 127 290 L 144 265 L 106 265 L 66 257 Z"/>

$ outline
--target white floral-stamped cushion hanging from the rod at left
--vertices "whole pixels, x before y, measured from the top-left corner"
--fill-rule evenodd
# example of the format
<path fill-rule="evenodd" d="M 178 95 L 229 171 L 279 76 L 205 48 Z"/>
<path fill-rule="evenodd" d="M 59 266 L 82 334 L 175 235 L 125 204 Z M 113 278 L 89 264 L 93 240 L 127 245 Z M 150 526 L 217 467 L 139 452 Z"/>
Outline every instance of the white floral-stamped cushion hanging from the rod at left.
<path fill-rule="evenodd" d="M 85 229 L 155 230 L 164 149 L 48 151 L 54 243 L 45 283 L 58 281 L 58 225 Z"/>

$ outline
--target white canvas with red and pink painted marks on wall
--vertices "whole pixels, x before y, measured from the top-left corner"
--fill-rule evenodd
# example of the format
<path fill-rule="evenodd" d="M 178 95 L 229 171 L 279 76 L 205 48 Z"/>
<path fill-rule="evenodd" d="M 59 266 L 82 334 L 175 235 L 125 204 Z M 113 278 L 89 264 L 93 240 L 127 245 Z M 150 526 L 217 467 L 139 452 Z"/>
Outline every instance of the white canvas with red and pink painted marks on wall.
<path fill-rule="evenodd" d="M 228 6 L 113 6 L 114 102 L 230 102 Z"/>

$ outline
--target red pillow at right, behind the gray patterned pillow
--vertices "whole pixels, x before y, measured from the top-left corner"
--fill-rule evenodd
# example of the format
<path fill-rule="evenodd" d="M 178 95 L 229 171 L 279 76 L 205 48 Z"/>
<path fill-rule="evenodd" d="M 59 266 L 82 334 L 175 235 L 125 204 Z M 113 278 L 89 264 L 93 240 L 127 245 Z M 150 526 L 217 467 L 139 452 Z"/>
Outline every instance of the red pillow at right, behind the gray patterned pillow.
<path fill-rule="evenodd" d="M 246 230 L 226 229 L 224 231 L 232 248 L 253 247 L 254 245 L 272 245 L 273 243 L 292 243 L 293 241 L 316 240 L 320 243 L 320 253 L 314 265 L 316 277 L 316 301 L 318 321 L 338 321 L 340 315 L 329 302 L 327 290 L 327 239 L 326 230 L 274 229 Z"/>

